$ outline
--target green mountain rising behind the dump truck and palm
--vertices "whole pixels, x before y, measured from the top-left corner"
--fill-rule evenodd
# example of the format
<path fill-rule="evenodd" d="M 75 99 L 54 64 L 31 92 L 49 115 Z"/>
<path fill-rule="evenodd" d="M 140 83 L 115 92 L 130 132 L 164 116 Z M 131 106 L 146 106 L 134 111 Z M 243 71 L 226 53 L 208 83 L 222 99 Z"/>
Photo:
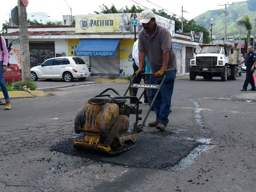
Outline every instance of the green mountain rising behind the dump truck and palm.
<path fill-rule="evenodd" d="M 211 18 L 213 18 L 212 34 L 214 35 L 214 39 L 223 39 L 225 34 L 225 6 L 221 7 L 224 7 L 224 9 L 207 11 L 194 18 L 196 24 L 201 25 L 207 29 L 211 29 Z M 255 0 L 233 3 L 233 5 L 227 6 L 227 12 L 227 39 L 239 38 L 239 20 L 242 20 L 243 16 L 246 14 L 249 16 L 252 23 L 251 35 L 255 36 Z M 246 36 L 247 31 L 243 26 L 241 26 L 241 39 L 244 39 Z"/>

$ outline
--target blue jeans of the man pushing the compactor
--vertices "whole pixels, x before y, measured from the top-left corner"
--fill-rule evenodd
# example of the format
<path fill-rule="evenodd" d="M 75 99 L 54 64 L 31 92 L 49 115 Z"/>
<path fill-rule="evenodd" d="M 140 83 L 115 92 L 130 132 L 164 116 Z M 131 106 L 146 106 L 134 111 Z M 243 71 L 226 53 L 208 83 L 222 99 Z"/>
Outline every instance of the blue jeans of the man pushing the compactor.
<path fill-rule="evenodd" d="M 170 114 L 171 108 L 171 100 L 172 100 L 172 92 L 174 86 L 174 79 L 176 77 L 176 70 L 167 71 L 164 73 L 165 80 L 164 84 L 161 87 L 160 92 L 158 93 L 155 103 L 154 110 L 156 113 L 156 121 L 158 123 L 164 124 L 165 126 L 169 123 L 168 116 Z M 163 80 L 161 78 L 155 78 L 154 76 L 150 76 L 150 84 L 160 84 Z M 156 95 L 157 89 L 150 89 L 150 96 L 154 98 Z"/>

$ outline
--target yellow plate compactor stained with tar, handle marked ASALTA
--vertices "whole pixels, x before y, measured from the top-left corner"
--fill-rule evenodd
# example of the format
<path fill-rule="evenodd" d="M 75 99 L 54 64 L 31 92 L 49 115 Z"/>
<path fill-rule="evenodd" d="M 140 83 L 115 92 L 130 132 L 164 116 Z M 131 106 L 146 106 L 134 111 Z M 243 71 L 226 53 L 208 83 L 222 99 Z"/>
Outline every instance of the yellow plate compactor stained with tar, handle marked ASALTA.
<path fill-rule="evenodd" d="M 142 86 L 141 84 L 133 84 L 134 79 L 135 76 L 132 78 L 124 96 L 120 96 L 116 90 L 108 88 L 88 100 L 88 102 L 78 110 L 75 118 L 75 133 L 84 134 L 84 139 L 74 140 L 75 147 L 116 154 L 136 146 L 138 133 L 143 131 L 143 125 L 145 124 L 162 84 L 142 84 Z M 139 99 L 136 96 L 125 96 L 131 86 L 143 89 L 158 89 L 143 123 L 139 126 L 138 120 L 142 119 L 139 117 L 139 114 L 142 112 L 142 110 L 139 109 L 139 99 L 142 97 L 143 93 Z M 112 90 L 118 96 L 111 97 L 109 94 L 104 94 L 109 90 Z M 135 106 L 127 105 L 126 99 L 132 98 L 137 101 Z M 129 126 L 130 114 L 136 115 L 133 126 Z"/>

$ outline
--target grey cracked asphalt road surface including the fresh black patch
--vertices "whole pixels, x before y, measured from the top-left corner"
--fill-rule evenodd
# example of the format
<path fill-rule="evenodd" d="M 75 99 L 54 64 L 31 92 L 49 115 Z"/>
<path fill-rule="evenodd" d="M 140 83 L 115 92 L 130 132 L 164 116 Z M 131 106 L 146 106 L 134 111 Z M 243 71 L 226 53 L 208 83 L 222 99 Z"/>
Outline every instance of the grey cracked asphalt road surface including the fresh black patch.
<path fill-rule="evenodd" d="M 74 118 L 108 87 L 123 95 L 127 82 L 38 81 L 52 96 L 0 108 L 0 191 L 254 192 L 255 100 L 243 96 L 255 93 L 240 91 L 244 79 L 176 80 L 167 130 L 147 125 L 151 111 L 137 146 L 114 156 L 74 148 Z M 148 104 L 140 108 L 143 120 Z"/>

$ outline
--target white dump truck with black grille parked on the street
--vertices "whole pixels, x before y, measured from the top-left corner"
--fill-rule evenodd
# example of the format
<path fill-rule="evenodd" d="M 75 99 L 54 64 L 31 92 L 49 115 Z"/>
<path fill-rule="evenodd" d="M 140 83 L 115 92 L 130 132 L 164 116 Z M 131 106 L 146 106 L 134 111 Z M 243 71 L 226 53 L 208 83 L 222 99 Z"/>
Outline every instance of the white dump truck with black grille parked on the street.
<path fill-rule="evenodd" d="M 239 62 L 239 50 L 232 44 L 201 44 L 202 49 L 190 60 L 189 77 L 195 80 L 196 76 L 204 79 L 220 77 L 221 81 L 236 80 L 242 75 L 242 66 Z"/>

